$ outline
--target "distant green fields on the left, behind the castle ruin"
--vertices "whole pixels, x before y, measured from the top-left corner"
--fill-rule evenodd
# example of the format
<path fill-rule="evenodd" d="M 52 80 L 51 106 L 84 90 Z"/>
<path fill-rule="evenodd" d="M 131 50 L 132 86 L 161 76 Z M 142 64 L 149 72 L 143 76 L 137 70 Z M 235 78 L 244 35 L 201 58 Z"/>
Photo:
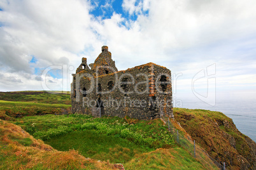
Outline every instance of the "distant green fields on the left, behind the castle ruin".
<path fill-rule="evenodd" d="M 0 119 L 27 115 L 62 114 L 71 107 L 70 95 L 46 91 L 0 92 Z"/>

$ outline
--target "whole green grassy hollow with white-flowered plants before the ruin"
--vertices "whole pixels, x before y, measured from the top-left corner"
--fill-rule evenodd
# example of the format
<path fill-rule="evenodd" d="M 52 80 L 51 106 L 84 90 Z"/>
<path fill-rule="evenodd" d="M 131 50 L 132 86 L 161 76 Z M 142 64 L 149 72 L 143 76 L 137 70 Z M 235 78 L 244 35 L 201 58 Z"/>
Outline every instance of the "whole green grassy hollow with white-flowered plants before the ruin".
<path fill-rule="evenodd" d="M 129 124 L 119 117 L 72 114 L 28 116 L 13 123 L 57 150 L 75 149 L 85 157 L 110 162 L 127 162 L 136 154 L 174 145 L 159 119 Z"/>

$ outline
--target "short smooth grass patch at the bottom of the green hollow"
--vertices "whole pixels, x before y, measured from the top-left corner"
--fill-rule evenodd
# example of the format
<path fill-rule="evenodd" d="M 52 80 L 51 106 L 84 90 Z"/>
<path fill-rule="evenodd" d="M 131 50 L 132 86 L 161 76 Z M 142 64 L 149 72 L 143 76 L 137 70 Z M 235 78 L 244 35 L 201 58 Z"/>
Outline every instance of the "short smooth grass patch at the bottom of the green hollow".
<path fill-rule="evenodd" d="M 97 134 L 94 130 L 73 131 L 46 141 L 48 145 L 61 151 L 78 150 L 85 157 L 110 162 L 128 162 L 135 154 L 150 152 L 153 149 L 132 143 L 117 136 Z"/>

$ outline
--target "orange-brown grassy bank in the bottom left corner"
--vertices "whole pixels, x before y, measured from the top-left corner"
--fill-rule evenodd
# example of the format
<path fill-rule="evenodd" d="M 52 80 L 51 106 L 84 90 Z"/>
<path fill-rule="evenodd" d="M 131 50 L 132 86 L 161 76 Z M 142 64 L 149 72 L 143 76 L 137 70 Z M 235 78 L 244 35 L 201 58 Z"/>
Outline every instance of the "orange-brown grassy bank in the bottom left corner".
<path fill-rule="evenodd" d="M 0 169 L 116 169 L 85 158 L 76 150 L 60 152 L 15 124 L 0 119 Z"/>

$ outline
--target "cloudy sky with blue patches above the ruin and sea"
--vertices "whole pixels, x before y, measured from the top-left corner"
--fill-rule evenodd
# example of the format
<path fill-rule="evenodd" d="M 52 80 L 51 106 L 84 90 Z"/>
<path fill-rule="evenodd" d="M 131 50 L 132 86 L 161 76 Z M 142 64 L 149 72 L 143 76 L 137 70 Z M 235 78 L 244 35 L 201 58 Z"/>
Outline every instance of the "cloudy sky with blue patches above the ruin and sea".
<path fill-rule="evenodd" d="M 69 91 L 81 58 L 93 63 L 107 45 L 118 70 L 170 69 L 177 98 L 255 98 L 255 9 L 255 0 L 0 0 L 0 91 Z"/>

